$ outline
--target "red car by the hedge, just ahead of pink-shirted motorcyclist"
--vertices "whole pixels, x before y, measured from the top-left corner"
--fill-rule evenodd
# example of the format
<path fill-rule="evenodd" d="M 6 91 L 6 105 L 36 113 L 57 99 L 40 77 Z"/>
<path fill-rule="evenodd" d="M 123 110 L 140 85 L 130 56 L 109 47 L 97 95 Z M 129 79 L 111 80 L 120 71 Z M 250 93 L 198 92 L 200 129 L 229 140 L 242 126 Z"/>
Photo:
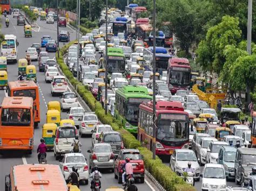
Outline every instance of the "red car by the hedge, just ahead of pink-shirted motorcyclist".
<path fill-rule="evenodd" d="M 114 161 L 114 178 L 118 179 L 118 183 L 122 183 L 123 169 L 122 165 L 125 163 L 125 158 L 130 158 L 133 167 L 133 178 L 140 179 L 140 183 L 144 183 L 145 168 L 142 155 L 138 149 L 122 149 L 116 161 Z"/>

